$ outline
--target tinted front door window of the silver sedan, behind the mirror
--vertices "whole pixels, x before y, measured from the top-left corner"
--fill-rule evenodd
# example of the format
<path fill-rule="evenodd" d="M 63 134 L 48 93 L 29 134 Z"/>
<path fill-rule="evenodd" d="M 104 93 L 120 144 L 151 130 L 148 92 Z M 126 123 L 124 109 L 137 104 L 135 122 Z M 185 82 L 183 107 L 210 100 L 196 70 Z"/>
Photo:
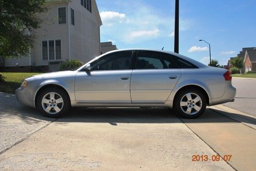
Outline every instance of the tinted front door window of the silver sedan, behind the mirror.
<path fill-rule="evenodd" d="M 129 70 L 132 51 L 116 52 L 91 63 L 92 71 Z"/>

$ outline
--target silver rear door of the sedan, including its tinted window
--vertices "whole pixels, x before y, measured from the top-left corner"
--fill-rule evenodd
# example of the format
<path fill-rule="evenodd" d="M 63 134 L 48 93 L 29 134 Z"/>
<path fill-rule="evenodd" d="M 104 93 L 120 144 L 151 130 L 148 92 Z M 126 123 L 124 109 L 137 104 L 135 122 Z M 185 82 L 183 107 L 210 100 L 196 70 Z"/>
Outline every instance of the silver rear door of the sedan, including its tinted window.
<path fill-rule="evenodd" d="M 138 51 L 131 78 L 132 103 L 164 103 L 180 76 L 168 54 Z"/>

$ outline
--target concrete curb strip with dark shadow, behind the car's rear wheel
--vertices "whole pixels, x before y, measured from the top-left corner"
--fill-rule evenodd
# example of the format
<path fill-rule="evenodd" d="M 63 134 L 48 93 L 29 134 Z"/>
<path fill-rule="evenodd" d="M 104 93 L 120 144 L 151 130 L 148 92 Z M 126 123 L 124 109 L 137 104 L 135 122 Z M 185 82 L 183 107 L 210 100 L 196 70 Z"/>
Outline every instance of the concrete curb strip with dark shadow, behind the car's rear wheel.
<path fill-rule="evenodd" d="M 251 127 L 252 129 L 256 130 L 256 117 L 253 115 L 249 115 L 244 112 L 240 112 L 238 110 L 229 108 L 222 104 L 219 104 L 216 106 L 210 106 L 208 108 L 215 112 L 217 112 L 217 110 L 218 110 L 217 113 L 220 113 L 221 115 L 227 116 L 230 119 L 241 122 L 244 125 L 247 125 L 247 126 Z"/>

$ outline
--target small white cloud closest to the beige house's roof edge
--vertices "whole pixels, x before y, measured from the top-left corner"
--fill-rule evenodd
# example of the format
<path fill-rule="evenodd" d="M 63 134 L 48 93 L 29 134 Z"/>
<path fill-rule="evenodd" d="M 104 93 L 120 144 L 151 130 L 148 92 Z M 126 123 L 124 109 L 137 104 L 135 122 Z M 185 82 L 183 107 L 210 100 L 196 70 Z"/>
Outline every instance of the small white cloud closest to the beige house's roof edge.
<path fill-rule="evenodd" d="M 105 26 L 113 26 L 114 24 L 122 23 L 125 20 L 125 14 L 113 11 L 102 11 L 100 17 Z"/>

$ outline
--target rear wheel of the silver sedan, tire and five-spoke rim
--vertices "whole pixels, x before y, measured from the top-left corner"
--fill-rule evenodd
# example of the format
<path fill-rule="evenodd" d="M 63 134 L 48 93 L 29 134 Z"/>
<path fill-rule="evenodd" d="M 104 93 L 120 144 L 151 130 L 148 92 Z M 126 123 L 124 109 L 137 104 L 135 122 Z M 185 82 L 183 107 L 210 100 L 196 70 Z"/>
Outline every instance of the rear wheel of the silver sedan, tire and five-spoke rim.
<path fill-rule="evenodd" d="M 173 109 L 183 118 L 198 118 L 206 109 L 206 97 L 197 89 L 182 90 L 174 100 Z"/>

